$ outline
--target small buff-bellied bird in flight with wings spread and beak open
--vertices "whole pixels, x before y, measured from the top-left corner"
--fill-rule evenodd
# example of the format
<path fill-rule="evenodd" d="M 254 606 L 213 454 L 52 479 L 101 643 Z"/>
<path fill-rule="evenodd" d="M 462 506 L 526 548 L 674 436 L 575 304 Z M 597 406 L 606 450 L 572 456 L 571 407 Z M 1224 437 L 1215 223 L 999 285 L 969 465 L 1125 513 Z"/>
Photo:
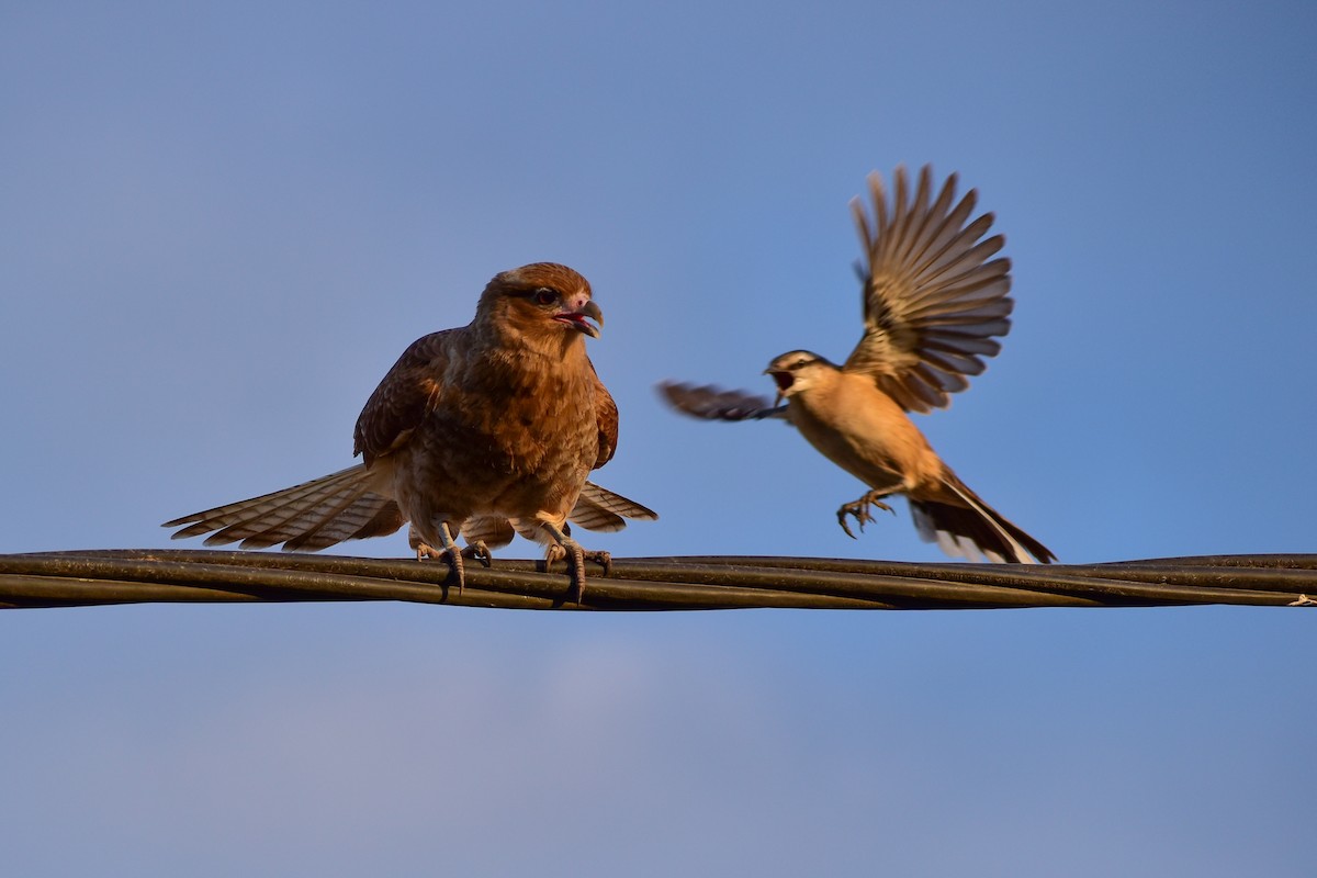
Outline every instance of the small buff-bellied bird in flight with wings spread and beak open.
<path fill-rule="evenodd" d="M 772 404 L 761 396 L 714 386 L 665 383 L 660 391 L 678 411 L 710 420 L 782 417 L 830 461 L 869 491 L 838 509 L 864 529 L 871 507 L 890 511 L 884 498 L 903 494 L 919 536 L 947 554 L 979 561 L 1051 562 L 1056 557 L 982 502 L 928 445 L 906 412 L 950 403 L 984 370 L 982 357 L 1010 329 L 1010 261 L 993 259 L 1005 244 L 982 236 L 993 216 L 969 220 L 976 194 L 960 201 L 951 175 L 934 197 L 925 167 L 913 194 L 905 168 L 894 175 L 889 203 L 882 178 L 869 175 L 874 216 L 852 201 L 868 265 L 864 337 L 838 366 L 807 351 L 773 359 L 765 374 L 777 383 Z M 781 404 L 785 400 L 785 404 Z"/>

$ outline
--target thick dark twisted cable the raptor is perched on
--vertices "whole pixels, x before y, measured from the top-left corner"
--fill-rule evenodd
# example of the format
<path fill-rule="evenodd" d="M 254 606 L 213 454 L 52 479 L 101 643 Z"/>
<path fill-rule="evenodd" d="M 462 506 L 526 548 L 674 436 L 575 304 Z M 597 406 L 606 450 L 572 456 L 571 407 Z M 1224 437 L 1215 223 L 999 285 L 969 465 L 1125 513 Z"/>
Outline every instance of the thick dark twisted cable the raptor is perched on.
<path fill-rule="evenodd" d="M 618 558 L 578 604 L 543 562 L 469 565 L 342 555 L 109 550 L 0 555 L 0 608 L 128 603 L 406 600 L 510 609 L 990 609 L 1317 606 L 1317 555 L 1096 565 L 901 563 L 777 557 Z"/>

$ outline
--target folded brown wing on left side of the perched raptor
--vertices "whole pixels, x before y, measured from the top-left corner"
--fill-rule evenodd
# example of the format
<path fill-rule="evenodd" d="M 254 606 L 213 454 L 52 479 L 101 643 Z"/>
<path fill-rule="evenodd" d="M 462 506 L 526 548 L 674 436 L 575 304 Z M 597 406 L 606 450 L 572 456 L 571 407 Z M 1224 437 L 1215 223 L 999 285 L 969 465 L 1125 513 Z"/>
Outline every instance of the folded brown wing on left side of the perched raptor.
<path fill-rule="evenodd" d="M 443 392 L 449 358 L 461 346 L 465 326 L 421 336 L 403 351 L 366 400 L 353 432 L 353 454 L 369 467 L 411 438 Z"/>

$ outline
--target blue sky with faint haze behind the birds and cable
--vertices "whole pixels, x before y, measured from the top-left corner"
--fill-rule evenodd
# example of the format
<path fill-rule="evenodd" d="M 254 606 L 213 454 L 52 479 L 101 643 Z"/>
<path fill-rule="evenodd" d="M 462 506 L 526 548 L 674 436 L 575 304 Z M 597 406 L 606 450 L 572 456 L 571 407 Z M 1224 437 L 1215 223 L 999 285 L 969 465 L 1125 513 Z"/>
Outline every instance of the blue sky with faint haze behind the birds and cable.
<path fill-rule="evenodd" d="M 0 4 L 0 552 L 350 462 L 403 348 L 581 270 L 619 557 L 938 559 L 770 392 L 871 170 L 977 187 L 1002 354 L 919 420 L 1063 561 L 1313 552 L 1310 3 Z M 182 544 L 173 544 L 175 546 Z M 199 545 L 199 544 L 192 544 Z M 340 550 L 403 555 L 395 536 Z M 512 557 L 533 557 L 518 542 Z M 0 613 L 14 875 L 1312 875 L 1317 613 Z"/>

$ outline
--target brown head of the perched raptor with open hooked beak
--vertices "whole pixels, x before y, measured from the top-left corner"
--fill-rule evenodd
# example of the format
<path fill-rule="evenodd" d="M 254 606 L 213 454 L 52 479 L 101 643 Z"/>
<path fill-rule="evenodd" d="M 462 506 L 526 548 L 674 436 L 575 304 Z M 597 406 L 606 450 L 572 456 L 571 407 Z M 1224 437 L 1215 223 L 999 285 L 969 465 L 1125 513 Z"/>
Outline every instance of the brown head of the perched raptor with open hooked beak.
<path fill-rule="evenodd" d="M 599 337 L 603 312 L 590 296 L 590 283 L 572 269 L 533 262 L 494 275 L 481 294 L 475 320 L 529 344 L 566 345 L 579 336 Z"/>

